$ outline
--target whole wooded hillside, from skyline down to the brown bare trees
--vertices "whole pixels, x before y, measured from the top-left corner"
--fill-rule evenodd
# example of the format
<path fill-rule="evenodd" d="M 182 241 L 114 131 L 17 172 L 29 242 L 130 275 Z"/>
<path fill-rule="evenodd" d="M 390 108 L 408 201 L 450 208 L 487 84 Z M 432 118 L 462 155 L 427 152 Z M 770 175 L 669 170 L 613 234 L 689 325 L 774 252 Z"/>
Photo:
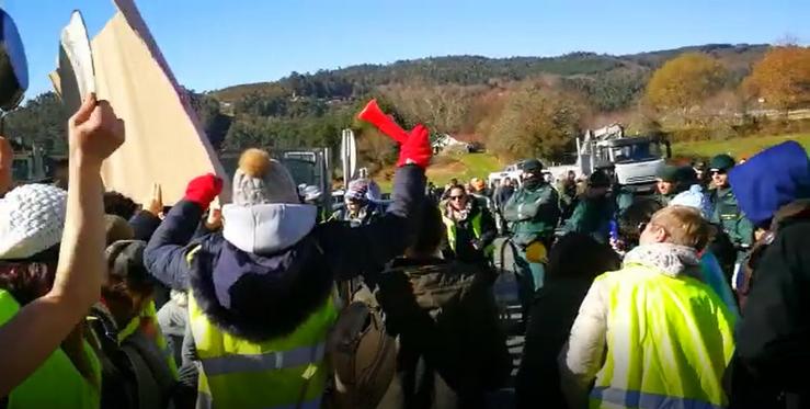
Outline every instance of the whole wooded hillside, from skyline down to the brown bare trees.
<path fill-rule="evenodd" d="M 688 53 L 709 58 L 718 65 L 710 91 L 731 92 L 767 50 L 768 45 L 710 44 L 624 56 L 431 57 L 292 72 L 278 81 L 190 91 L 190 96 L 208 138 L 223 150 L 335 147 L 340 130 L 353 126 L 361 156 L 383 167 L 393 158 L 391 147 L 380 138 L 365 138 L 369 129 L 353 122 L 363 103 L 377 98 L 404 126 L 421 122 L 434 135 L 470 135 L 503 156 L 531 149 L 555 158 L 581 127 L 602 126 L 608 117 L 617 121 L 616 115 L 628 114 L 649 122 L 639 102 L 653 72 L 666 61 Z M 676 82 L 703 89 L 700 81 Z M 56 95 L 44 93 L 10 113 L 5 130 L 27 145 L 60 154 L 66 149 L 66 118 Z"/>

